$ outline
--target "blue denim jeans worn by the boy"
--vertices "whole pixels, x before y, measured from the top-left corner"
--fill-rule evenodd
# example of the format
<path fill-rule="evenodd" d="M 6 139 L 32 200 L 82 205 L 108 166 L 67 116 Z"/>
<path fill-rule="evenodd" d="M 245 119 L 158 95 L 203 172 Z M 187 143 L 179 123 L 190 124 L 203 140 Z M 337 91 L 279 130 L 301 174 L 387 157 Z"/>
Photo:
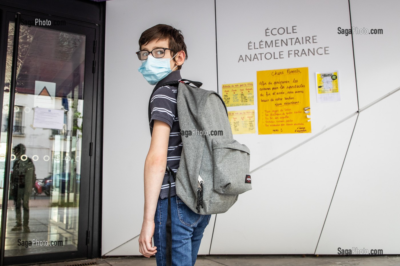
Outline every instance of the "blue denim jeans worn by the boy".
<path fill-rule="evenodd" d="M 157 266 L 166 265 L 166 228 L 168 198 L 158 199 L 154 216 L 154 246 L 157 247 Z M 210 222 L 210 215 L 200 215 L 190 210 L 178 197 L 171 197 L 172 220 L 172 265 L 194 265 L 204 229 Z"/>

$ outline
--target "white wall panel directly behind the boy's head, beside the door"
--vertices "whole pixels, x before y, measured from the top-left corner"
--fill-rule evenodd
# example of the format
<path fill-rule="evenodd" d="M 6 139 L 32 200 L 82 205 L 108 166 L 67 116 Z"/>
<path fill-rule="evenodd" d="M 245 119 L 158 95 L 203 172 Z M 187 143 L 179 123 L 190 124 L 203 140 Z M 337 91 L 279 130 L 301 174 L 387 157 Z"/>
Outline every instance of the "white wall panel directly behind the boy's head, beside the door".
<path fill-rule="evenodd" d="M 154 87 L 137 70 L 140 34 L 160 23 L 182 30 L 188 47 L 182 77 L 217 89 L 214 1 L 186 3 L 201 16 L 179 15 L 184 10 L 173 0 L 106 4 L 102 255 L 140 254 L 135 237 L 143 221 L 143 167 L 150 146 L 147 109 Z M 157 6 L 162 10 L 155 11 Z M 208 254 L 212 228 L 210 222 L 202 254 Z"/>

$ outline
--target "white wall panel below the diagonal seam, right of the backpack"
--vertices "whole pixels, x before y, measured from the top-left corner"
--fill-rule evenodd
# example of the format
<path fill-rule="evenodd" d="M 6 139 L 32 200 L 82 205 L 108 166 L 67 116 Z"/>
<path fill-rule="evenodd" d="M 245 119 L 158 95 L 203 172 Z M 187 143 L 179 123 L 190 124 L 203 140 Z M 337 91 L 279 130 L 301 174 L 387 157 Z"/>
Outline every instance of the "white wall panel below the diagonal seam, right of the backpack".
<path fill-rule="evenodd" d="M 355 121 L 252 173 L 252 191 L 216 215 L 211 254 L 313 254 Z"/>

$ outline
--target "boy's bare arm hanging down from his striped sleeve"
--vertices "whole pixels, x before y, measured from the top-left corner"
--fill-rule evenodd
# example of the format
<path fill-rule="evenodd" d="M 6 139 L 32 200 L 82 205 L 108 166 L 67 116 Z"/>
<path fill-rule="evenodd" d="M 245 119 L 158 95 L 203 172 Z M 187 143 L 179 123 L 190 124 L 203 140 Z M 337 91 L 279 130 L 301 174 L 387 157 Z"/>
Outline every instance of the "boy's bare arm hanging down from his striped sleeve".
<path fill-rule="evenodd" d="M 148 258 L 157 252 L 156 247 L 152 247 L 154 214 L 167 165 L 170 131 L 171 127 L 167 123 L 154 120 L 150 149 L 144 163 L 144 216 L 139 252 Z"/>

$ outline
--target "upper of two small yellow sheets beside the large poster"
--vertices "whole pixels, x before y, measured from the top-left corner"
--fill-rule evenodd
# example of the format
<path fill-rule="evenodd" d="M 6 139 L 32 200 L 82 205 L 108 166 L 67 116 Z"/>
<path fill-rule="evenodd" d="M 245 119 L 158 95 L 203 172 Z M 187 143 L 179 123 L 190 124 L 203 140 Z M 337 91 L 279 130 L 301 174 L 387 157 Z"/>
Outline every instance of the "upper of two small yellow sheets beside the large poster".
<path fill-rule="evenodd" d="M 222 85 L 222 99 L 228 107 L 254 105 L 253 82 Z"/>

